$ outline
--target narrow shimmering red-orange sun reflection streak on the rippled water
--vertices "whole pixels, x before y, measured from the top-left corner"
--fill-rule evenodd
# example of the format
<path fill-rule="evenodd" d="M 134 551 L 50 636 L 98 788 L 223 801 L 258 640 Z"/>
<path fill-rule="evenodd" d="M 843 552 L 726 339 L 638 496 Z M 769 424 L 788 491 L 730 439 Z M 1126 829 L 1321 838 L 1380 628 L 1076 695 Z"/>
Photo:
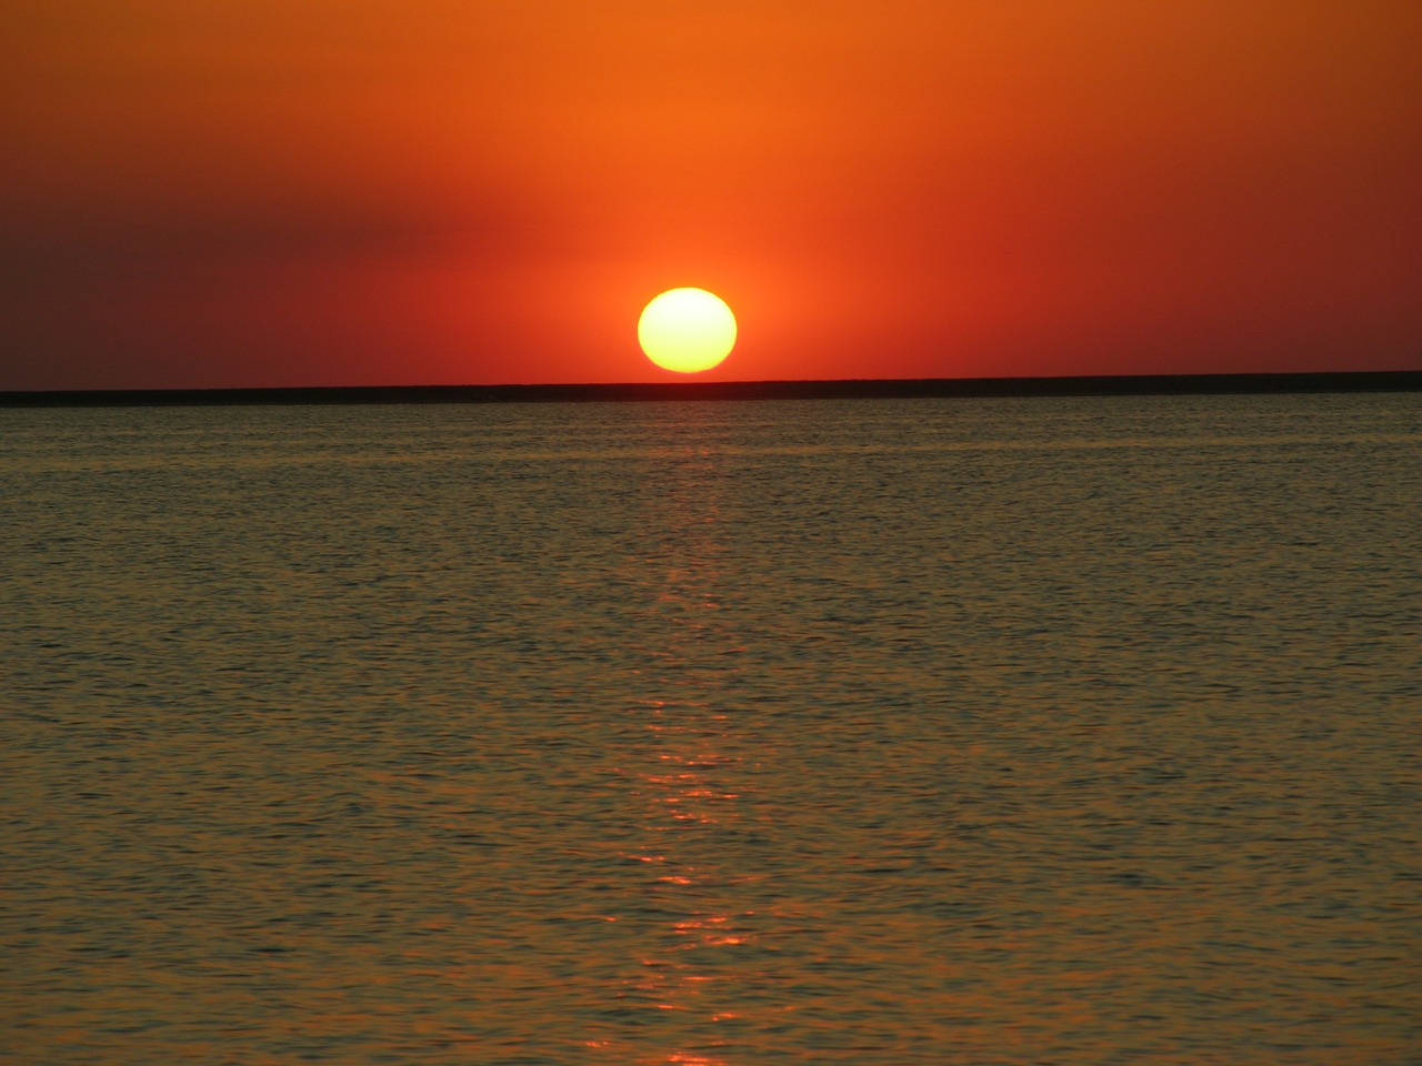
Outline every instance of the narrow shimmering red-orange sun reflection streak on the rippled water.
<path fill-rule="evenodd" d="M 747 871 L 737 868 L 728 831 L 741 817 L 735 780 L 741 758 L 729 746 L 725 691 L 741 650 L 727 623 L 718 559 L 729 532 L 717 496 L 717 456 L 697 449 L 675 476 L 650 523 L 665 540 L 650 573 L 654 628 L 664 642 L 653 651 L 646 681 L 654 685 L 638 706 L 653 741 L 637 786 L 646 799 L 640 856 L 651 867 L 647 903 L 660 927 L 648 938 L 636 998 L 658 1012 L 656 1043 L 646 1062 L 668 1066 L 727 1066 L 715 1049 L 734 1043 L 728 1028 L 741 1016 L 737 959 L 754 934 L 754 914 L 738 900 Z"/>

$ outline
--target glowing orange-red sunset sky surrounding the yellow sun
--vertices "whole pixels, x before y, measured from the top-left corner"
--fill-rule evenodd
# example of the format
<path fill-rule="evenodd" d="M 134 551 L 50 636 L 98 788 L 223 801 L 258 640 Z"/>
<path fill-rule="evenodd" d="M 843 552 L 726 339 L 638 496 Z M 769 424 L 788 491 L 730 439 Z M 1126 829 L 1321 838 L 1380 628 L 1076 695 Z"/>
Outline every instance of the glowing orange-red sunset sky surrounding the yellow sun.
<path fill-rule="evenodd" d="M 1422 367 L 1418 0 L 18 0 L 0 389 Z"/>

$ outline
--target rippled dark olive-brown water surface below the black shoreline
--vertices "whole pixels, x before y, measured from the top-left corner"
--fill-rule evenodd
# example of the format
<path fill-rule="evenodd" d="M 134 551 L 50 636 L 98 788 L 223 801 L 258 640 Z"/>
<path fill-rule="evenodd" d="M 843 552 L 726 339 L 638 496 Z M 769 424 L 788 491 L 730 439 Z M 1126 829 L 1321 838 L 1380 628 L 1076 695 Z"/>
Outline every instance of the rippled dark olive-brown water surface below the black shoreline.
<path fill-rule="evenodd" d="M 0 1062 L 1422 1062 L 1419 445 L 0 411 Z"/>

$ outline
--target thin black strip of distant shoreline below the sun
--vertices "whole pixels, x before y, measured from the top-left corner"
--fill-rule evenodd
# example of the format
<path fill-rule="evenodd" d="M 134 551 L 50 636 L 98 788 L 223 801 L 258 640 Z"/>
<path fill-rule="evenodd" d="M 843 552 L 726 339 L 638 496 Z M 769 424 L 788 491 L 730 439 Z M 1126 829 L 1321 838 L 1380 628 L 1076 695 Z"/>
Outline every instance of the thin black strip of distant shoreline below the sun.
<path fill-rule="evenodd" d="M 1071 378 L 658 381 L 602 385 L 337 385 L 0 392 L 0 407 L 192 407 L 253 404 L 532 404 L 661 399 L 914 399 L 924 397 L 1152 397 L 1290 392 L 1415 392 L 1422 371 L 1158 374 Z"/>

